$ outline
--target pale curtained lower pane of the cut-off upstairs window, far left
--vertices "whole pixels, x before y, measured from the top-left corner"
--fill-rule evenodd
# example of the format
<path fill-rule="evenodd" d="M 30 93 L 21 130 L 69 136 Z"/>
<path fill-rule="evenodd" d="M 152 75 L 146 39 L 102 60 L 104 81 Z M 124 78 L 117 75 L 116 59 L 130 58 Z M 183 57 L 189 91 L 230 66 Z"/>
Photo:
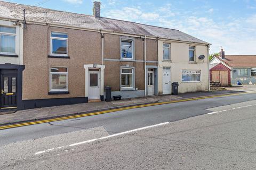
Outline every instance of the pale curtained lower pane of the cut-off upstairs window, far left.
<path fill-rule="evenodd" d="M 15 53 L 15 36 L 1 35 L 1 52 Z"/>

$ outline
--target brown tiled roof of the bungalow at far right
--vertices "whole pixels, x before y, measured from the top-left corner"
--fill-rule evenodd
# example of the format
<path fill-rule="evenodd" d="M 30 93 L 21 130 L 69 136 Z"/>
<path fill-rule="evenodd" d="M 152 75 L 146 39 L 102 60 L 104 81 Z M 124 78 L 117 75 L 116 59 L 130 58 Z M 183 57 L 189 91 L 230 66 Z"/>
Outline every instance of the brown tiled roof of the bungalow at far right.
<path fill-rule="evenodd" d="M 230 67 L 255 67 L 256 68 L 256 55 L 225 55 L 223 60 L 217 57 L 220 61 L 226 63 Z"/>

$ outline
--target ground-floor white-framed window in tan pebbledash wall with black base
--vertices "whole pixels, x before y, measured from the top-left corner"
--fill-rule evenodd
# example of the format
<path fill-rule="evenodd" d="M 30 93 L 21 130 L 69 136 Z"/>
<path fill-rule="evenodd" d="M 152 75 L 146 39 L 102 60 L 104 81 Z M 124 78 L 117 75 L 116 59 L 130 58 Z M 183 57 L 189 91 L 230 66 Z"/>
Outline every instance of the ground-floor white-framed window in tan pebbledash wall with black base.
<path fill-rule="evenodd" d="M 50 91 L 68 91 L 68 68 L 51 67 L 50 69 Z"/>

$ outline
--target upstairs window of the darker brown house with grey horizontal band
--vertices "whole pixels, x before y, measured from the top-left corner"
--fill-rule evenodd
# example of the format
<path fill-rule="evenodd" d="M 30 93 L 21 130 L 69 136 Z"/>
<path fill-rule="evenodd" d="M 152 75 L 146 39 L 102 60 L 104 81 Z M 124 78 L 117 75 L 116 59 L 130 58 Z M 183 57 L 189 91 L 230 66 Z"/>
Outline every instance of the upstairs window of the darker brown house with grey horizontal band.
<path fill-rule="evenodd" d="M 121 39 L 121 59 L 133 59 L 133 40 Z"/>

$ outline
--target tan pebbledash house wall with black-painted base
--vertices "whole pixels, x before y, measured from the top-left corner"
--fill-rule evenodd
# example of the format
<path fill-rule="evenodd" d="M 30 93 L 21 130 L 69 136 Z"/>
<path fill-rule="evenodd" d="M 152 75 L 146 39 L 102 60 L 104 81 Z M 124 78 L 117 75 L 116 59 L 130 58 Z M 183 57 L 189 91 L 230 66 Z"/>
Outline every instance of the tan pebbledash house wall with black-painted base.
<path fill-rule="evenodd" d="M 51 31 L 68 33 L 69 58 L 49 58 Z M 23 109 L 87 102 L 84 64 L 102 64 L 101 34 L 27 24 L 23 40 Z M 68 94 L 49 95 L 50 67 L 68 68 Z"/>

